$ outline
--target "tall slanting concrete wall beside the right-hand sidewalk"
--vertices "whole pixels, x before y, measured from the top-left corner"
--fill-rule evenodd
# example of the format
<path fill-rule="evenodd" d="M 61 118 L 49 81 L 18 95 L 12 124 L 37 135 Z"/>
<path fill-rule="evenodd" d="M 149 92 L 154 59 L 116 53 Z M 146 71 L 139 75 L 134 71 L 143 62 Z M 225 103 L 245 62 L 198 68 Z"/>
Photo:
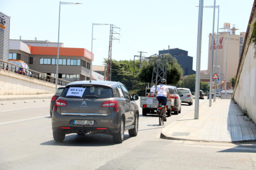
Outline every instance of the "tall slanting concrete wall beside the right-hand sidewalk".
<path fill-rule="evenodd" d="M 256 1 L 252 7 L 249 23 L 256 21 Z M 256 29 L 256 28 L 255 28 Z M 250 42 L 253 27 L 248 26 L 245 34 L 244 45 L 242 48 L 241 60 L 236 74 L 236 83 L 234 87 L 234 100 L 242 110 L 247 110 L 249 118 L 256 123 L 256 57 L 254 42 Z"/>

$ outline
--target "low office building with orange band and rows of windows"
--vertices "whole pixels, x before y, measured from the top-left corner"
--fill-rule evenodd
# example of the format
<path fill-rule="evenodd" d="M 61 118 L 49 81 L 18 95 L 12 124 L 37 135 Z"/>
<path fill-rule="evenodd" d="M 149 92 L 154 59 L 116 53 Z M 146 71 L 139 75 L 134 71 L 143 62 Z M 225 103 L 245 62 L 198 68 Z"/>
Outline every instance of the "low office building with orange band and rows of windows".
<path fill-rule="evenodd" d="M 22 60 L 30 69 L 56 77 L 58 43 L 49 41 L 10 40 L 9 59 Z M 91 52 L 82 48 L 59 47 L 58 77 L 68 81 L 90 79 Z M 92 72 L 92 79 L 104 76 Z"/>

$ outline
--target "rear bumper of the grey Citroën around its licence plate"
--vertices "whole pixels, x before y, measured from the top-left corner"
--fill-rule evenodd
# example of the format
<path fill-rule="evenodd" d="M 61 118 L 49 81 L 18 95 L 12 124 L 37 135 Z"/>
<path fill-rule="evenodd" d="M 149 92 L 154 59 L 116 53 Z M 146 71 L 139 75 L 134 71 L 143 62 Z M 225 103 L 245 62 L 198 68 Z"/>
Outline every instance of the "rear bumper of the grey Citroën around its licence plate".
<path fill-rule="evenodd" d="M 111 113 L 108 116 L 64 116 L 53 111 L 51 119 L 53 131 L 61 131 L 65 134 L 70 133 L 87 133 L 87 132 L 119 132 L 121 114 Z M 93 125 L 75 125 L 74 120 L 93 120 Z M 61 127 L 69 127 L 70 129 L 61 129 Z M 106 129 L 97 129 L 106 128 Z"/>

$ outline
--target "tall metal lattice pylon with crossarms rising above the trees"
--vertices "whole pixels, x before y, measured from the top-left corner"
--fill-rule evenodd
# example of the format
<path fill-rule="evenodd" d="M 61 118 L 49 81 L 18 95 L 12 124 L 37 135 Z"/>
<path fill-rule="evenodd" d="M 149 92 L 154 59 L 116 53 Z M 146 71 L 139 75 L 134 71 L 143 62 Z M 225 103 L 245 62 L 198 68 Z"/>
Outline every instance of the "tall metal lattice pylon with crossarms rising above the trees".
<path fill-rule="evenodd" d="M 107 80 L 111 81 L 111 68 L 112 68 L 112 41 L 113 39 L 118 39 L 113 36 L 113 34 L 119 34 L 114 31 L 115 28 L 119 28 L 113 24 L 110 25 L 109 33 L 109 49 L 108 49 L 108 70 L 107 70 Z M 120 29 L 120 28 L 119 28 Z M 119 40 L 119 39 L 118 39 Z"/>

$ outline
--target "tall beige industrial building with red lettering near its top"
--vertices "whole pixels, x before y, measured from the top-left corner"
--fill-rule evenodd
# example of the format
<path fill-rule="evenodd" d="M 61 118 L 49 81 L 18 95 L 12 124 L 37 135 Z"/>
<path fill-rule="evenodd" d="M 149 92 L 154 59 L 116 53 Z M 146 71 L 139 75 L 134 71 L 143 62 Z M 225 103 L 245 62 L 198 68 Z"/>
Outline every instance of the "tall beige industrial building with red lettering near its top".
<path fill-rule="evenodd" d="M 227 67 L 227 89 L 232 89 L 229 79 L 236 76 L 237 66 L 239 59 L 241 57 L 242 44 L 244 42 L 245 33 L 241 32 L 236 34 L 236 28 L 230 29 L 228 32 L 224 31 L 219 33 L 218 39 L 216 39 L 216 34 L 214 34 L 213 40 L 213 74 L 215 73 L 215 57 L 216 49 L 218 48 L 217 56 L 217 68 L 216 72 L 220 80 L 225 79 L 225 70 L 226 70 L 226 52 L 227 52 L 227 41 L 228 41 L 228 67 Z M 208 47 L 208 70 L 207 73 L 210 75 L 210 63 L 211 63 L 211 33 L 209 34 L 209 47 Z M 219 89 L 224 89 L 224 85 L 221 85 Z"/>

